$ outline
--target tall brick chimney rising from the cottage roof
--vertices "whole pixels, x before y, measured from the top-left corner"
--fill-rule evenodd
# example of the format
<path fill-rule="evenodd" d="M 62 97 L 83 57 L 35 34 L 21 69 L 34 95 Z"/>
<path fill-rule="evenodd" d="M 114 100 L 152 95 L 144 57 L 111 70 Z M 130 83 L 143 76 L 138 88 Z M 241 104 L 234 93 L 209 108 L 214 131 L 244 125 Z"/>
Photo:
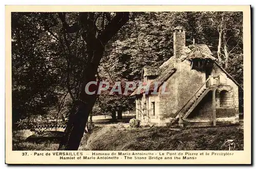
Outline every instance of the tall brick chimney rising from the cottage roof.
<path fill-rule="evenodd" d="M 176 27 L 174 30 L 174 56 L 176 61 L 185 55 L 185 29 L 183 27 Z"/>

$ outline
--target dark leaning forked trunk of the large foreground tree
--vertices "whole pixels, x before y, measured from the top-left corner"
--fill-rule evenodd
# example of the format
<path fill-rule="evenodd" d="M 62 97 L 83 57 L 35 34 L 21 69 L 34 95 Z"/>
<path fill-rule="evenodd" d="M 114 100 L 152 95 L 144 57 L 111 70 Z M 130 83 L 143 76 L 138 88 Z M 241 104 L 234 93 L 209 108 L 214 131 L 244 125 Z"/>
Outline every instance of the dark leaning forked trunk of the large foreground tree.
<path fill-rule="evenodd" d="M 70 31 L 70 27 L 66 22 L 66 14 L 58 14 L 65 31 L 68 33 L 75 33 Z M 92 12 L 80 13 L 79 21 L 82 25 L 82 38 L 86 42 L 88 62 L 86 68 L 83 69 L 83 81 L 79 93 L 80 100 L 74 102 L 65 130 L 65 135 L 59 144 L 58 150 L 78 150 L 89 114 L 96 101 L 96 94 L 89 95 L 84 89 L 89 82 L 96 81 L 95 75 L 97 75 L 99 62 L 103 56 L 104 46 L 129 20 L 129 12 L 117 12 L 116 16 L 112 18 L 108 25 L 106 25 L 102 32 L 96 37 L 94 16 L 95 13 Z"/>

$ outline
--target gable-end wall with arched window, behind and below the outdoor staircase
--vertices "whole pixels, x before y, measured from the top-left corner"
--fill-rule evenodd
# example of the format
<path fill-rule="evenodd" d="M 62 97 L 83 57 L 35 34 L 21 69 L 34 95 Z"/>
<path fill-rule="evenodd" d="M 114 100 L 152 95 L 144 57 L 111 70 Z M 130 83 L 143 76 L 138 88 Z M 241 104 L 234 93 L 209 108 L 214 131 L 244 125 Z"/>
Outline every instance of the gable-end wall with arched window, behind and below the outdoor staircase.
<path fill-rule="evenodd" d="M 220 76 L 220 86 L 216 90 L 216 121 L 219 123 L 237 123 L 239 119 L 238 86 L 224 71 L 214 64 L 211 76 Z M 222 92 L 225 94 L 221 94 Z M 211 122 L 213 118 L 212 91 L 188 115 L 189 122 Z"/>

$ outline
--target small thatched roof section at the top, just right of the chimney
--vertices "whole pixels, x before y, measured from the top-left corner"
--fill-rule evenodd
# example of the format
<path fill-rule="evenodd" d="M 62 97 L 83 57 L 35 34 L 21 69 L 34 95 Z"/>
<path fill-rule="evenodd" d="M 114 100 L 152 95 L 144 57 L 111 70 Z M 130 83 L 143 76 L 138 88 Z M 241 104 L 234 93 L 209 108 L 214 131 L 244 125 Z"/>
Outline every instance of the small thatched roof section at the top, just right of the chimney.
<path fill-rule="evenodd" d="M 193 45 L 189 45 L 188 48 L 191 50 L 191 52 L 188 54 L 187 60 L 192 60 L 192 59 L 217 60 L 215 57 L 212 56 L 212 53 L 206 44 L 193 44 Z"/>

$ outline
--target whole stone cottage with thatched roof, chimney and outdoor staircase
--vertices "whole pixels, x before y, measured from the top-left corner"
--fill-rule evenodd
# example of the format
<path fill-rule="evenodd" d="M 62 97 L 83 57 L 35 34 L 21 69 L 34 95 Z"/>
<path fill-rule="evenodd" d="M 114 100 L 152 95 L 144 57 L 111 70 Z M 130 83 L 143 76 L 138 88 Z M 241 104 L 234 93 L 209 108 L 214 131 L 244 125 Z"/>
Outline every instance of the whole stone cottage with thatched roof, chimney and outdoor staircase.
<path fill-rule="evenodd" d="M 217 63 L 206 44 L 185 45 L 185 29 L 174 29 L 174 56 L 160 67 L 144 67 L 144 82 L 158 94 L 136 95 L 142 124 L 218 125 L 239 122 L 239 84 Z M 164 86 L 166 82 L 166 86 Z M 162 94 L 162 90 L 168 94 Z M 152 86 L 150 87 L 153 90 Z"/>

